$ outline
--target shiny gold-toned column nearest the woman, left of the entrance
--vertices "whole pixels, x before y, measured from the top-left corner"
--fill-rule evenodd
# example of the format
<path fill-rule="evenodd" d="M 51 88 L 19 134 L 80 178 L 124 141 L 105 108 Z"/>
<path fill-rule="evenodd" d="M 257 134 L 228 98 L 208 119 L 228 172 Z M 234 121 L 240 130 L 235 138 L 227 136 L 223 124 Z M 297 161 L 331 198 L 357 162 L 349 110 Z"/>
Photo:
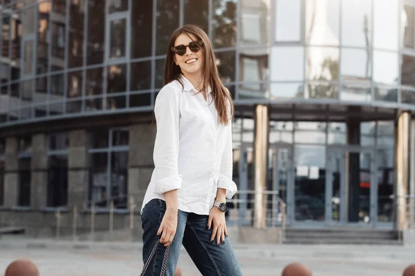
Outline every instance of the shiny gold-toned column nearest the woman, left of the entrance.
<path fill-rule="evenodd" d="M 254 227 L 266 227 L 266 176 L 268 166 L 268 106 L 258 105 L 255 108 L 255 210 Z"/>

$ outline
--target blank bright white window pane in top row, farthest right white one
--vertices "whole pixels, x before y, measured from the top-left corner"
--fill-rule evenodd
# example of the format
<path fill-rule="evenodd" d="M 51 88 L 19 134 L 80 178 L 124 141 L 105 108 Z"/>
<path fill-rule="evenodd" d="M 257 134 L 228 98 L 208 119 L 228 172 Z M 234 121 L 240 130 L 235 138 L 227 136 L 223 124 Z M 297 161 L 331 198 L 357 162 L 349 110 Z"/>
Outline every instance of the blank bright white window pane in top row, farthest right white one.
<path fill-rule="evenodd" d="M 398 50 L 398 7 L 398 0 L 374 1 L 374 48 Z"/>

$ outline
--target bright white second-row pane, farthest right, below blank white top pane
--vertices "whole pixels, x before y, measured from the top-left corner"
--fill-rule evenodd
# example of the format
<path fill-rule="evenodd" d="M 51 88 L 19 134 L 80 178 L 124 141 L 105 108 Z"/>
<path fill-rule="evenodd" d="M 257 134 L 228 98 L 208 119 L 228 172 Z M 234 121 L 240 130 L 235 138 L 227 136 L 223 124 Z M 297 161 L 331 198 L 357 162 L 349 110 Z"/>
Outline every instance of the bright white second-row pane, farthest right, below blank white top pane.
<path fill-rule="evenodd" d="M 397 85 L 398 72 L 398 53 L 374 51 L 374 82 Z"/>

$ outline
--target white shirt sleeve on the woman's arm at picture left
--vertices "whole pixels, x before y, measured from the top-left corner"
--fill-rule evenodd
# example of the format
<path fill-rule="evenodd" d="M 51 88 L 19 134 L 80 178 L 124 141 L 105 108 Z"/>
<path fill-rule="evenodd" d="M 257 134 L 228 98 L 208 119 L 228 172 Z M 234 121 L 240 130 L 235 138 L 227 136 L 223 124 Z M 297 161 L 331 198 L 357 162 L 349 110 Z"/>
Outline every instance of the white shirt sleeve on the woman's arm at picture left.
<path fill-rule="evenodd" d="M 156 140 L 154 144 L 154 192 L 163 194 L 181 188 L 182 175 L 178 174 L 178 143 L 180 92 L 165 86 L 157 95 L 154 114 Z"/>

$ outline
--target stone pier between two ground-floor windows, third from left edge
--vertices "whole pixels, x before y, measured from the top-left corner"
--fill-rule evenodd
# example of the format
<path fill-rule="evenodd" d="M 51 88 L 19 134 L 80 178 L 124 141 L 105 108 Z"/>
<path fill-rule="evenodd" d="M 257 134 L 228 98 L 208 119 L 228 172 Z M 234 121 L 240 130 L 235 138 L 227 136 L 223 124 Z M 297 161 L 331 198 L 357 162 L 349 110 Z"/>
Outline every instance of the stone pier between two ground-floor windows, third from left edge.
<path fill-rule="evenodd" d="M 88 143 L 86 130 L 69 132 L 68 208 L 82 210 L 88 199 Z"/>

